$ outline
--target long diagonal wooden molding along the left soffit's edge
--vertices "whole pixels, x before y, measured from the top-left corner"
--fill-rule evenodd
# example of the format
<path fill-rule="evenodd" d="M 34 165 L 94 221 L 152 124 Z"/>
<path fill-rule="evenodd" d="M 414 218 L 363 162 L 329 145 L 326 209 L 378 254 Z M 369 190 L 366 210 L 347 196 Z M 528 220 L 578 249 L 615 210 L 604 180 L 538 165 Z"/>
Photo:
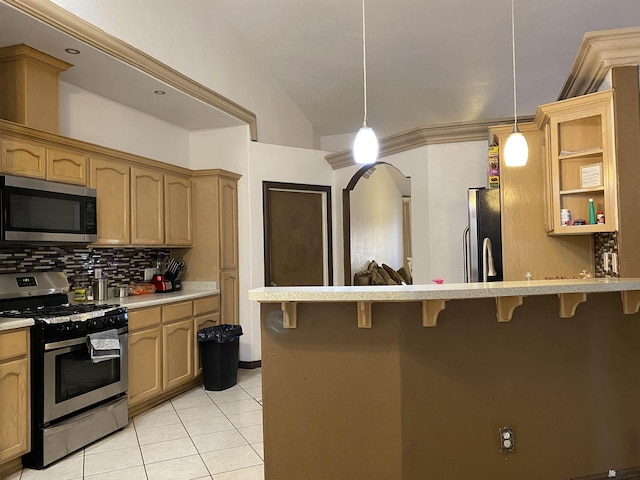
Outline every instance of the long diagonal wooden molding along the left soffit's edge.
<path fill-rule="evenodd" d="M 159 62 L 128 43 L 109 35 L 49 0 L 3 0 L 21 12 L 70 35 L 107 55 L 249 125 L 251 140 L 258 140 L 256 115 L 228 98 Z"/>

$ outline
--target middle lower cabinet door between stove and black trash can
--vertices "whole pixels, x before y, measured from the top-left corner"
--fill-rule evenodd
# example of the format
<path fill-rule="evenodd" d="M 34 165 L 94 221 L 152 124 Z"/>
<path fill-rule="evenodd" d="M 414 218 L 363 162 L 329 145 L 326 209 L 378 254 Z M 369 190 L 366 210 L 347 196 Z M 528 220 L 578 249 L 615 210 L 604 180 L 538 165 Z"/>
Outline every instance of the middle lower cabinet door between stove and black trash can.
<path fill-rule="evenodd" d="M 193 378 L 193 318 L 162 326 L 164 358 L 162 388 L 170 388 Z"/>

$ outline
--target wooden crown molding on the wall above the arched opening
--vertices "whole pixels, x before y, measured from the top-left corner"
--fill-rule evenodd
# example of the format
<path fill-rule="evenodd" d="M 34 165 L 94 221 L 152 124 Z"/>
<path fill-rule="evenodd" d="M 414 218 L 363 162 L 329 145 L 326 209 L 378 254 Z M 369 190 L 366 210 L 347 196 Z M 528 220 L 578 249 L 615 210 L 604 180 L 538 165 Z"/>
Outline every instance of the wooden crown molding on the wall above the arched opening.
<path fill-rule="evenodd" d="M 529 122 L 533 117 L 523 117 L 519 120 Z M 416 127 L 411 130 L 396 133 L 380 140 L 378 158 L 387 157 L 400 152 L 420 148 L 424 145 L 439 143 L 474 142 L 488 140 L 489 128 L 497 124 L 513 124 L 513 119 L 494 119 L 481 122 L 460 122 L 429 127 Z M 324 157 L 334 170 L 356 165 L 351 150 L 331 153 Z"/>

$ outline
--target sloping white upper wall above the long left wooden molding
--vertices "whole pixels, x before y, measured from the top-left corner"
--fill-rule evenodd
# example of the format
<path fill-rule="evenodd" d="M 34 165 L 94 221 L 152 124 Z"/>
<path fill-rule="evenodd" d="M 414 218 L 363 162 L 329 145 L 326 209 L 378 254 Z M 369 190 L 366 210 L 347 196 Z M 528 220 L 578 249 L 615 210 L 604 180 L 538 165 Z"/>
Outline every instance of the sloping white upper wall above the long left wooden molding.
<path fill-rule="evenodd" d="M 251 110 L 258 119 L 261 142 L 319 146 L 311 123 L 260 66 L 242 37 L 216 15 L 215 2 L 199 2 L 197 9 L 180 9 L 176 17 L 177 2 L 53 1 Z"/>

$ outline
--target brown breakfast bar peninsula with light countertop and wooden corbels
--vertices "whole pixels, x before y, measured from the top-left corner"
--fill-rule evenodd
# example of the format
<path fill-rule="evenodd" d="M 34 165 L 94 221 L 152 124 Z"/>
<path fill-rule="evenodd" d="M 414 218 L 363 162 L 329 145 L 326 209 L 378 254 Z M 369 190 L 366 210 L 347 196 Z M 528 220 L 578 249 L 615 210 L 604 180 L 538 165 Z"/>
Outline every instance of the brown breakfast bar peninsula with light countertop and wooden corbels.
<path fill-rule="evenodd" d="M 261 303 L 267 480 L 561 480 L 640 465 L 640 279 L 248 295 Z"/>

